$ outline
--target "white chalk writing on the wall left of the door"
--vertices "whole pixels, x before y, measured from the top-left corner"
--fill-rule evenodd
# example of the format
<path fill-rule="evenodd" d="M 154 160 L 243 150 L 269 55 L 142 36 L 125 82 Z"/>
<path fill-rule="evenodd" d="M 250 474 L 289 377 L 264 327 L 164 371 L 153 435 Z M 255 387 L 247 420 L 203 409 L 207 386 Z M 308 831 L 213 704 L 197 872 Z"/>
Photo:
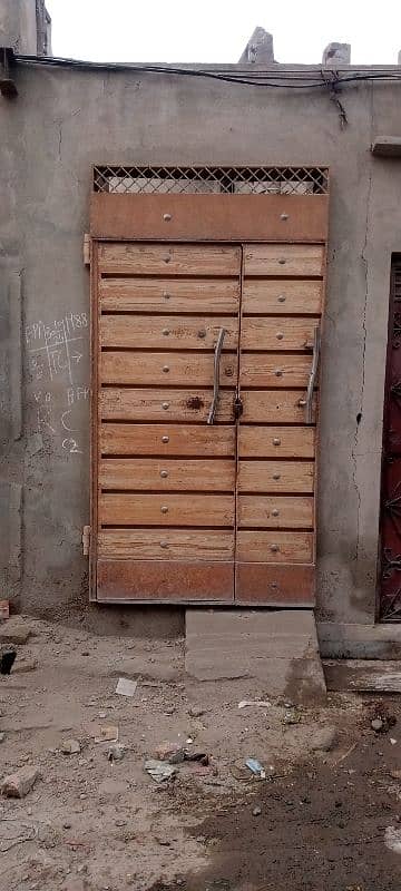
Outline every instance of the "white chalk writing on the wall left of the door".
<path fill-rule="evenodd" d="M 59 440 L 63 452 L 82 454 L 82 411 L 90 389 L 87 374 L 88 316 L 66 313 L 25 331 L 30 379 L 33 383 L 36 424 L 40 433 Z"/>

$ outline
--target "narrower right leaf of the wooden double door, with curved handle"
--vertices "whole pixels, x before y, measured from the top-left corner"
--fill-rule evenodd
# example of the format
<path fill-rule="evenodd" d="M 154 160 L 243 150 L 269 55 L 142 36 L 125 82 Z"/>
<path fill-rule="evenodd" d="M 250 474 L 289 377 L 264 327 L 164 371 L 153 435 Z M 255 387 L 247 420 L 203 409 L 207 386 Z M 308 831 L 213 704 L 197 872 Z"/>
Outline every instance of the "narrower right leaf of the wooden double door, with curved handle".
<path fill-rule="evenodd" d="M 323 244 L 248 244 L 237 425 L 241 604 L 313 605 Z"/>

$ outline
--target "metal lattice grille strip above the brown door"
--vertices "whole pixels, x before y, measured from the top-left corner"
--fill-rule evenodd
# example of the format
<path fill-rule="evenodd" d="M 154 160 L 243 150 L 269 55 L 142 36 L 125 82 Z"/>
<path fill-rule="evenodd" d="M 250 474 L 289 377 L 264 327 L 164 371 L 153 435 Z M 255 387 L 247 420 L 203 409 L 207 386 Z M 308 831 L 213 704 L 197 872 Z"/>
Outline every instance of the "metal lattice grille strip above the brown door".
<path fill-rule="evenodd" d="M 325 195 L 324 167 L 94 168 L 94 190 L 119 194 Z"/>

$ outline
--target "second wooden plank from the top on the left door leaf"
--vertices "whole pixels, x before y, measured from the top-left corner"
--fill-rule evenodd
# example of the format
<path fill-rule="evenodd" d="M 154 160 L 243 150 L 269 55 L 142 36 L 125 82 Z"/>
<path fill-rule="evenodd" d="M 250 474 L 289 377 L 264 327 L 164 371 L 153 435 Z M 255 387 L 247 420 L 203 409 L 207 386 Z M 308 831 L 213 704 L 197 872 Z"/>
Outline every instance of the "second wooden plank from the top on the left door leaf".
<path fill-rule="evenodd" d="M 102 312 L 237 313 L 235 278 L 101 278 Z"/>

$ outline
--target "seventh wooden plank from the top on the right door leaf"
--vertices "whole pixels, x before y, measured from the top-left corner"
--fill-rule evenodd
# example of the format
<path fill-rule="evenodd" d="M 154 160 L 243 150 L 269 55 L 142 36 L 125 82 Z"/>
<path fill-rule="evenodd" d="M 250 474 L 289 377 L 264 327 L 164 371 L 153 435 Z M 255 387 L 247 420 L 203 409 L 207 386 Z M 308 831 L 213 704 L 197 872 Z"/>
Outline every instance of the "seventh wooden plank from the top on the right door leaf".
<path fill-rule="evenodd" d="M 311 461 L 239 461 L 239 492 L 313 492 L 313 483 Z"/>

